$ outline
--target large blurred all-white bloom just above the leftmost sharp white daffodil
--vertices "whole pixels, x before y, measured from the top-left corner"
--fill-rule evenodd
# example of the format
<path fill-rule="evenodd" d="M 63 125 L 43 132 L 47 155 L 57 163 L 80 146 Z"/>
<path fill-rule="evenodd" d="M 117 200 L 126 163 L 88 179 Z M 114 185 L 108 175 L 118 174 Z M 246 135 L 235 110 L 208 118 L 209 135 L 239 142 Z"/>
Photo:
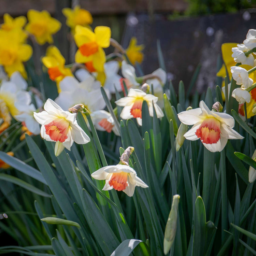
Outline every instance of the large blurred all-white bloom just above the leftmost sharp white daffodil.
<path fill-rule="evenodd" d="M 81 83 L 74 77 L 65 77 L 60 82 L 61 92 L 55 99 L 55 102 L 66 111 L 80 103 L 84 105 L 90 114 L 94 111 L 104 109 L 106 103 L 101 94 L 100 85 L 97 89 L 94 89 L 93 83 L 91 82 L 93 82 L 91 77 L 87 77 L 87 80 Z M 108 91 L 106 93 L 110 96 Z"/>

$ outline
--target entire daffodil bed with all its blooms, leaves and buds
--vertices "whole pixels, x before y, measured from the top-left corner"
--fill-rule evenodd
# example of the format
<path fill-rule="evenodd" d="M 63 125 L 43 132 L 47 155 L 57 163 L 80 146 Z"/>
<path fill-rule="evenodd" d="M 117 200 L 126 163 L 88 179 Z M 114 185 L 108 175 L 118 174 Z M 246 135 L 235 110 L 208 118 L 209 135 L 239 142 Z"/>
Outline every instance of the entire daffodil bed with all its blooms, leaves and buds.
<path fill-rule="evenodd" d="M 47 11 L 0 28 L 0 254 L 255 254 L 256 30 L 222 46 L 199 95 L 199 70 L 173 85 L 159 43 L 140 76 L 139 39 L 62 13 L 74 63 Z"/>

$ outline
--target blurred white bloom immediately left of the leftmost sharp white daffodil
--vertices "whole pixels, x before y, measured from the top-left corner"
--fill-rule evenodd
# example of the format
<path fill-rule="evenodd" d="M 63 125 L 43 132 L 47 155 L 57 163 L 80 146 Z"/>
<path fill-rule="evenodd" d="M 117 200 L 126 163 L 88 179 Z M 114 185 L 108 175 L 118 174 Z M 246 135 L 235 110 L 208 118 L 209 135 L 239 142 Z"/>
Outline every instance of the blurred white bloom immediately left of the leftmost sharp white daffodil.
<path fill-rule="evenodd" d="M 27 129 L 34 135 L 40 134 L 39 123 L 34 118 L 34 112 L 36 111 L 34 104 L 23 106 L 19 111 L 22 113 L 16 115 L 15 118 L 20 122 L 24 122 Z"/>

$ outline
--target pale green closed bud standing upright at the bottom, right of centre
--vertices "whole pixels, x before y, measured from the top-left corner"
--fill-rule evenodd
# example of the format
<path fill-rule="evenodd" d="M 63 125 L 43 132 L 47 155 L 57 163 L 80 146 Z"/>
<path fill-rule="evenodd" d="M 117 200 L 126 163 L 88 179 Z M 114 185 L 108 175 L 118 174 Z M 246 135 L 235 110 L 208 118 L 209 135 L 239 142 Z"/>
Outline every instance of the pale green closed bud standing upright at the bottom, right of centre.
<path fill-rule="evenodd" d="M 174 195 L 172 199 L 172 208 L 165 227 L 165 237 L 163 239 L 163 253 L 167 254 L 174 242 L 177 228 L 177 216 L 179 210 L 180 196 Z"/>

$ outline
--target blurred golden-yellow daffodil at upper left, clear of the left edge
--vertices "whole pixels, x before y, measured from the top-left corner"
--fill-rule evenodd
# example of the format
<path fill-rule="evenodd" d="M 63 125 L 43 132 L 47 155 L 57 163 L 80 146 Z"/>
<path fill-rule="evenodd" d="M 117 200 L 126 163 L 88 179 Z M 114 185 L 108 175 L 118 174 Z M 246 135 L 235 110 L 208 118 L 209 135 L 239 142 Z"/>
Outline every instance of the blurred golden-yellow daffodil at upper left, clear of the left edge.
<path fill-rule="evenodd" d="M 52 44 L 52 34 L 60 30 L 61 23 L 52 18 L 47 11 L 29 10 L 27 16 L 29 23 L 25 29 L 34 35 L 38 44 L 43 45 L 46 42 Z"/>

